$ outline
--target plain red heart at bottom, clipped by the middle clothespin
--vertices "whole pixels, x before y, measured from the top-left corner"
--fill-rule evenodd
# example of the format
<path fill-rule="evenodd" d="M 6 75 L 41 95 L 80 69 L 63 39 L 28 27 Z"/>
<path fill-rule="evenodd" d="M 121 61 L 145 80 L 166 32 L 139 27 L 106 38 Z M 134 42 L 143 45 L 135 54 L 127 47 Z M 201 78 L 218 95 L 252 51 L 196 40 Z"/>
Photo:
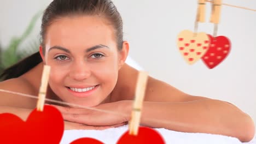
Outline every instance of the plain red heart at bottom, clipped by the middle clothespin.
<path fill-rule="evenodd" d="M 117 144 L 130 144 L 130 143 L 165 143 L 162 136 L 154 129 L 147 127 L 139 127 L 138 135 L 129 135 L 127 130 L 118 140 Z"/>

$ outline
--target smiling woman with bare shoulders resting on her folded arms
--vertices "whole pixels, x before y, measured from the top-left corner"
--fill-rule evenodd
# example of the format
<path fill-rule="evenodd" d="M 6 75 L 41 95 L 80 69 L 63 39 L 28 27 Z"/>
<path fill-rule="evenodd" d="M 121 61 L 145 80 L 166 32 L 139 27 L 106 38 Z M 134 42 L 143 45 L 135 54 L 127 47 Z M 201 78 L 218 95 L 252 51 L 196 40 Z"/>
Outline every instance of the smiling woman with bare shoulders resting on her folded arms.
<path fill-rule="evenodd" d="M 48 98 L 127 114 L 55 105 L 66 129 L 118 127 L 129 121 L 138 71 L 125 64 L 129 43 L 123 40 L 123 23 L 114 4 L 110 0 L 54 0 L 44 11 L 41 28 L 39 52 L 6 70 L 2 77 L 8 80 L 0 88 L 37 95 L 43 65 L 48 64 Z M 36 106 L 31 98 L 1 95 L 0 112 L 26 118 Z M 155 118 L 165 122 L 150 121 Z M 183 93 L 153 77 L 148 79 L 141 124 L 228 135 L 241 141 L 254 136 L 252 119 L 236 106 Z"/>

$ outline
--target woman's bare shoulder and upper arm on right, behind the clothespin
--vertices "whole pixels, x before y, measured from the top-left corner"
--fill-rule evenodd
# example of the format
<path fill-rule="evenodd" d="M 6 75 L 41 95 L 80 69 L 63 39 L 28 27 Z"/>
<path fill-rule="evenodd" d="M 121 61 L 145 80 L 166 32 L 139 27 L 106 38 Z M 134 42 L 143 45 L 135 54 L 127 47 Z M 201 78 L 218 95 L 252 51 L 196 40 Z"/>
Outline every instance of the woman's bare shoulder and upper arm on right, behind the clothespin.
<path fill-rule="evenodd" d="M 114 89 L 115 100 L 133 100 L 136 82 L 139 71 L 125 64 L 119 70 L 117 86 Z M 124 93 L 125 92 L 125 93 Z M 182 92 L 169 85 L 168 83 L 155 79 L 152 76 L 148 77 L 145 101 L 158 102 L 182 102 L 208 99 L 205 97 L 193 96 Z"/>

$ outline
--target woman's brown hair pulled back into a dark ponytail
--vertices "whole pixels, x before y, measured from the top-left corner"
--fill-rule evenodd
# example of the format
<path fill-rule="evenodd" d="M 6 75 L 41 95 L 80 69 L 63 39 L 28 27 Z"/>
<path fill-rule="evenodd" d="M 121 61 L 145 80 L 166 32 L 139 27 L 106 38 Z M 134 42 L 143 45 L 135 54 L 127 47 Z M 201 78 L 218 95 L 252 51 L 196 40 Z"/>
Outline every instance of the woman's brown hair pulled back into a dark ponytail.
<path fill-rule="evenodd" d="M 43 53 L 45 54 L 44 37 L 48 26 L 60 17 L 74 16 L 74 15 L 88 15 L 101 16 L 108 20 L 109 24 L 113 26 L 115 38 L 117 40 L 118 49 L 123 49 L 123 21 L 121 16 L 110 0 L 54 0 L 45 9 L 42 25 L 40 31 L 40 41 L 43 46 Z M 8 80 L 19 77 L 28 70 L 35 67 L 42 62 L 39 52 L 23 59 L 22 61 L 5 69 L 0 74 L 0 79 Z"/>

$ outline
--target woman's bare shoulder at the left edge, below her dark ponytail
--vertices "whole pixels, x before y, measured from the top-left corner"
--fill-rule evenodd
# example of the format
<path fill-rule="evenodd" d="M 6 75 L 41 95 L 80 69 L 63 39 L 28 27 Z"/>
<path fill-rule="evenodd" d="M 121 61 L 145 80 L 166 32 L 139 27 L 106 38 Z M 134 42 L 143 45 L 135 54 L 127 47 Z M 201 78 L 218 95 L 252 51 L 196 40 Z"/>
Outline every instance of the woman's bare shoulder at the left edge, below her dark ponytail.
<path fill-rule="evenodd" d="M 0 89 L 5 89 L 7 91 L 12 91 L 12 92 L 36 95 L 36 89 L 31 85 L 29 81 L 27 81 L 23 77 L 18 77 L 15 79 L 9 79 L 9 80 L 0 82 Z M 30 109 L 36 106 L 36 99 L 23 97 L 17 94 L 0 92 L 0 105 Z"/>

